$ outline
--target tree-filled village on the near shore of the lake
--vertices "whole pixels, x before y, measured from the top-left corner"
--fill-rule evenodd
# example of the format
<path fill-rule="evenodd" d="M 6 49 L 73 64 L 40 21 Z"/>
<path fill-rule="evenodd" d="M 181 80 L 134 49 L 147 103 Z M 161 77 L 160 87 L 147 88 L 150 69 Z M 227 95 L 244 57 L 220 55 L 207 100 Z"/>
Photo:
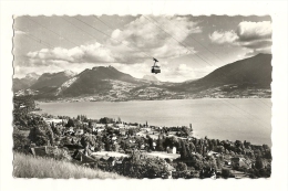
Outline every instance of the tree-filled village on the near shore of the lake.
<path fill-rule="evenodd" d="M 160 127 L 104 117 L 35 114 L 16 102 L 14 128 L 33 156 L 68 160 L 131 178 L 259 178 L 270 176 L 267 145 L 194 137 L 192 124 Z M 24 127 L 25 126 L 25 127 Z M 17 130 L 16 130 L 17 132 Z M 14 140 L 16 141 L 16 140 Z"/>

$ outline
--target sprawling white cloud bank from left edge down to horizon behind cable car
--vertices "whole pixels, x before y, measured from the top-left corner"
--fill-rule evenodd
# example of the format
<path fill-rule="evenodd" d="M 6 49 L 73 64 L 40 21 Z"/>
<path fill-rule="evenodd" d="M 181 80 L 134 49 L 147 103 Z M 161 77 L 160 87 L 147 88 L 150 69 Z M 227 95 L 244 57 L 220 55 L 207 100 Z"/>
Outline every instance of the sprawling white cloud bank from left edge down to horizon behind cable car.
<path fill-rule="evenodd" d="M 193 46 L 185 44 L 184 47 L 182 43 L 189 35 L 202 32 L 198 23 L 189 17 L 147 18 L 137 17 L 122 29 L 112 31 L 112 39 L 103 39 L 101 43 L 28 52 L 24 63 L 17 62 L 16 66 L 21 68 L 16 73 L 24 75 L 28 72 L 59 72 L 68 68 L 79 73 L 93 66 L 112 65 L 142 78 L 151 74 L 152 57 L 156 57 L 163 66 L 163 73 L 157 75 L 162 81 L 183 82 L 197 76 L 188 66 L 186 70 L 183 65 L 177 68 L 178 65 L 168 61 L 196 53 Z"/>

